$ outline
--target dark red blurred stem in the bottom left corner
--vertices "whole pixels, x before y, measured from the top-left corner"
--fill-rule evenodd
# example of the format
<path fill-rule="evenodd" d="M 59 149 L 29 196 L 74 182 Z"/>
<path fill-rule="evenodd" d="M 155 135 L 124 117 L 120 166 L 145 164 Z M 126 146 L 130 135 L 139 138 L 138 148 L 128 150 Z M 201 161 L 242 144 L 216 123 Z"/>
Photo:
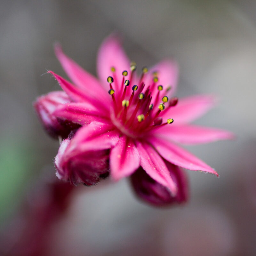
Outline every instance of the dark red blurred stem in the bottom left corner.
<path fill-rule="evenodd" d="M 52 224 L 66 212 L 74 187 L 56 177 L 36 182 L 0 234 L 0 255 L 44 256 Z"/>

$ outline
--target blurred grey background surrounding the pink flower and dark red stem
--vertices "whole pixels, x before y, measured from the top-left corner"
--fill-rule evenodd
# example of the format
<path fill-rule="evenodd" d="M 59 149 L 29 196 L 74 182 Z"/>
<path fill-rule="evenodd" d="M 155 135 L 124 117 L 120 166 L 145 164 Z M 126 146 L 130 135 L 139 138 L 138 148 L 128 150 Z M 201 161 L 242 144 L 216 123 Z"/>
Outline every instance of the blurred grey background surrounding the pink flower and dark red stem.
<path fill-rule="evenodd" d="M 47 233 L 44 255 L 256 254 L 255 1 L 2 0 L 0 13 L 2 233 L 17 235 L 19 223 L 8 227 L 21 202 L 29 201 L 35 184 L 36 200 L 44 200 L 39 177 L 55 172 L 59 142 L 44 132 L 32 107 L 37 96 L 59 90 L 43 75 L 46 69 L 66 77 L 53 43 L 60 41 L 95 75 L 100 43 L 118 31 L 138 67 L 166 56 L 178 61 L 178 97 L 218 95 L 219 106 L 196 123 L 230 130 L 237 138 L 188 147 L 220 178 L 186 171 L 190 200 L 182 206 L 141 203 L 127 180 L 77 187 Z M 9 255 L 9 244 L 2 247 Z"/>

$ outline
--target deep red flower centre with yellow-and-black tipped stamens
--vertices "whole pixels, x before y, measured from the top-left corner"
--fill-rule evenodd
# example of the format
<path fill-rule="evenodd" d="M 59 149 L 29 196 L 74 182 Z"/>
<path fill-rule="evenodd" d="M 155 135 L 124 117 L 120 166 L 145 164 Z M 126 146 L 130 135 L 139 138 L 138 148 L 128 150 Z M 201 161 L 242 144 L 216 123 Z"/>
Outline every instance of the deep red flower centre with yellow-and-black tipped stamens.
<path fill-rule="evenodd" d="M 121 84 L 117 82 L 114 67 L 111 68 L 113 76 L 107 78 L 110 87 L 108 93 L 111 95 L 113 103 L 110 108 L 111 120 L 117 129 L 131 138 L 144 137 L 151 130 L 172 124 L 172 118 L 168 118 L 163 123 L 162 112 L 174 107 L 178 102 L 177 97 L 172 97 L 169 100 L 166 96 L 171 89 L 170 86 L 166 86 L 165 90 L 163 85 L 158 85 L 156 88 L 157 72 L 153 72 L 151 82 L 145 84 L 147 67 L 142 68 L 138 85 L 131 86 L 136 68 L 136 64 L 132 63 L 129 79 L 126 79 L 128 71 L 122 72 Z"/>

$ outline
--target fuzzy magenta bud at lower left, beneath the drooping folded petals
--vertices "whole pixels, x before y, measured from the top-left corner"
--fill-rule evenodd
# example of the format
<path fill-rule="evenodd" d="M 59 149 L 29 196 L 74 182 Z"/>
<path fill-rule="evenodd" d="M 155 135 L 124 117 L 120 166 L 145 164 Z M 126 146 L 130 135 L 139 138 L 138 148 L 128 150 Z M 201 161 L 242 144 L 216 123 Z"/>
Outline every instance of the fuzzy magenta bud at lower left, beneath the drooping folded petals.
<path fill-rule="evenodd" d="M 71 140 L 63 140 L 55 157 L 56 175 L 60 180 L 70 181 L 73 185 L 95 185 L 108 176 L 109 150 L 73 151 L 66 150 Z"/>

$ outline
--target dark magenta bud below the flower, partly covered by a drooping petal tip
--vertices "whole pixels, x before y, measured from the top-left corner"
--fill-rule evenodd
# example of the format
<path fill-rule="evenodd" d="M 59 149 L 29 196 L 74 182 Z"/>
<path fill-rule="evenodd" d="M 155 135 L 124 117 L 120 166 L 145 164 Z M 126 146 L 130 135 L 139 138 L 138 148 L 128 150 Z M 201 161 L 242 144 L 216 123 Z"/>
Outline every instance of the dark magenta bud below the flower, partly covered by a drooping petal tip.
<path fill-rule="evenodd" d="M 184 203 L 188 199 L 188 183 L 185 173 L 180 167 L 165 162 L 172 180 L 177 185 L 177 194 L 171 195 L 169 189 L 153 180 L 141 167 L 132 174 L 132 187 L 137 196 L 143 201 L 155 206 L 168 206 Z"/>

